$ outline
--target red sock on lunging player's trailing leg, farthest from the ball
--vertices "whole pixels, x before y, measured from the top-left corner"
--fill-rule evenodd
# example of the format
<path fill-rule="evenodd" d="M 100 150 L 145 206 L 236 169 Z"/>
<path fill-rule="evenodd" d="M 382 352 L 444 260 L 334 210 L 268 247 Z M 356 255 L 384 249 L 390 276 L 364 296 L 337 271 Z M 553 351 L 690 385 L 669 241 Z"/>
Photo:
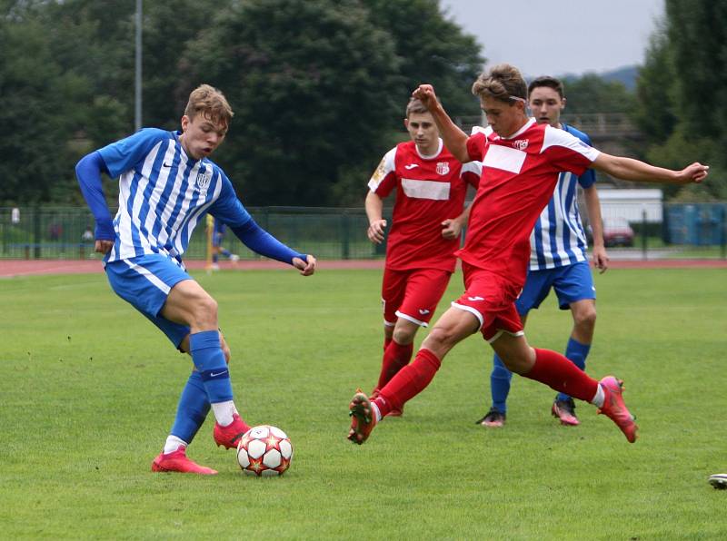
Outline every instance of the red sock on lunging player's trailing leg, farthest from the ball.
<path fill-rule="evenodd" d="M 535 349 L 535 364 L 522 376 L 586 402 L 590 402 L 598 390 L 598 381 L 590 378 L 573 361 L 550 349 Z"/>

